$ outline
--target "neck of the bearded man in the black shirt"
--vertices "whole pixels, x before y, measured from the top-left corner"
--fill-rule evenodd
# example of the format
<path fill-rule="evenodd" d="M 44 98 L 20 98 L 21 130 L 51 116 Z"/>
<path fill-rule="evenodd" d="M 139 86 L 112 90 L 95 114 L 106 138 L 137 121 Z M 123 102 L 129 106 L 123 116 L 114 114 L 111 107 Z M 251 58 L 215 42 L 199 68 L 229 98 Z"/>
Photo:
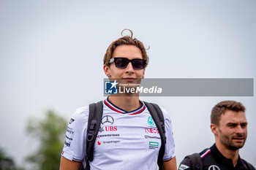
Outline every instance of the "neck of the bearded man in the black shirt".
<path fill-rule="evenodd" d="M 238 157 L 239 157 L 239 150 L 229 150 L 227 149 L 223 144 L 220 144 L 220 142 L 216 141 L 216 147 L 221 152 L 225 158 L 231 159 L 233 162 L 233 166 L 235 167 L 238 163 Z"/>

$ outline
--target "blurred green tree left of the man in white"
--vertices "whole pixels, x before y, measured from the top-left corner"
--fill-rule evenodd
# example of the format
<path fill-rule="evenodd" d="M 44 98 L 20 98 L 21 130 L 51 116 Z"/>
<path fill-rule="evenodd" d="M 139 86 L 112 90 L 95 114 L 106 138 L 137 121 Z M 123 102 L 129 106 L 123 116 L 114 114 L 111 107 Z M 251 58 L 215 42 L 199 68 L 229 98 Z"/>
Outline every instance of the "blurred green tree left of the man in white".
<path fill-rule="evenodd" d="M 66 129 L 67 120 L 50 110 L 43 120 L 29 120 L 27 132 L 39 142 L 37 151 L 27 158 L 33 169 L 59 169 Z"/>

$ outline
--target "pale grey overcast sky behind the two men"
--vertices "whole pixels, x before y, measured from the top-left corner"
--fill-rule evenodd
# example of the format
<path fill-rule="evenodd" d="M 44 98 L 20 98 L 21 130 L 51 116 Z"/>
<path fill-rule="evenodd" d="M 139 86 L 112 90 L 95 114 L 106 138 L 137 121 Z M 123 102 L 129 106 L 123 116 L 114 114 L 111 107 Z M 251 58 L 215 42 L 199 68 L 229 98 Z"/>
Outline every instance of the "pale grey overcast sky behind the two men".
<path fill-rule="evenodd" d="M 130 28 L 150 46 L 147 78 L 256 78 L 256 1 L 0 1 L 1 147 L 23 165 L 36 146 L 29 117 L 48 109 L 69 120 L 75 109 L 104 99 L 102 58 Z M 255 88 L 255 85 L 254 85 Z M 211 108 L 246 106 L 248 138 L 241 158 L 256 166 L 256 98 L 142 97 L 173 123 L 176 158 L 214 143 Z"/>

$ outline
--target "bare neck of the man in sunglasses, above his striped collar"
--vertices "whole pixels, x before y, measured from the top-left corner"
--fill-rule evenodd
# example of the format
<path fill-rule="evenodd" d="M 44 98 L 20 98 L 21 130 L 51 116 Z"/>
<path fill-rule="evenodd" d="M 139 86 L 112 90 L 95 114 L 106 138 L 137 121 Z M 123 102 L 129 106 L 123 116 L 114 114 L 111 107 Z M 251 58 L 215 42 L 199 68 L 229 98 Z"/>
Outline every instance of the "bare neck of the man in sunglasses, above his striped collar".
<path fill-rule="evenodd" d="M 127 112 L 131 112 L 141 106 L 139 96 L 109 96 L 108 100 Z"/>

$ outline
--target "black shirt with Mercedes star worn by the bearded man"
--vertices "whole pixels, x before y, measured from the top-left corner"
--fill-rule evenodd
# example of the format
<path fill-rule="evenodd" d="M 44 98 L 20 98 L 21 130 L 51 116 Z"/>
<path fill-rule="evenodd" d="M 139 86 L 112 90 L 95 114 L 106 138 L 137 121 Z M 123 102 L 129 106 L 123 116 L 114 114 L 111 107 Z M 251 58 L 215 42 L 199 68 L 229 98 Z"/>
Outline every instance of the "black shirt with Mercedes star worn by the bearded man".
<path fill-rule="evenodd" d="M 210 148 L 200 152 L 200 158 L 203 162 L 203 170 L 255 170 L 255 168 L 250 164 L 238 157 L 238 163 L 233 167 L 233 162 L 231 159 L 225 158 L 217 149 L 214 144 Z M 190 158 L 186 157 L 181 161 L 178 170 L 192 170 L 192 162 Z"/>

